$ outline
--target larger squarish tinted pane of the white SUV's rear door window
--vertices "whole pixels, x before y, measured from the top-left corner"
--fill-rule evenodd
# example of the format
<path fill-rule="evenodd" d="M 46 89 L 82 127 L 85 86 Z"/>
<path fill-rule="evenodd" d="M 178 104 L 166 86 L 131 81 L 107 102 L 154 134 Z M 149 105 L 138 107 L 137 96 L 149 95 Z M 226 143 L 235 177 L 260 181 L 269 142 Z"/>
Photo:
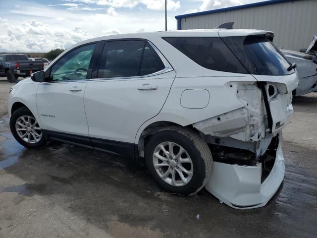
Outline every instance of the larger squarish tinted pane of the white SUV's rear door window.
<path fill-rule="evenodd" d="M 106 42 L 98 78 L 138 76 L 144 45 L 144 41 L 136 40 Z"/>

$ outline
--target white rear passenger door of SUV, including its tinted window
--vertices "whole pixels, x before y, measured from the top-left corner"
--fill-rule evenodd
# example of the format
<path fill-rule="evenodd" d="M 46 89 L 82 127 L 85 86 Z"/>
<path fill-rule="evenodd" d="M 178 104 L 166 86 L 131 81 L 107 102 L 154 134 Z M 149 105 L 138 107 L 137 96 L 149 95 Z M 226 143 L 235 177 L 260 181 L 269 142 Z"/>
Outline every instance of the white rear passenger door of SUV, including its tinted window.
<path fill-rule="evenodd" d="M 150 42 L 107 41 L 98 74 L 85 91 L 92 144 L 129 155 L 137 130 L 159 113 L 175 75 Z"/>

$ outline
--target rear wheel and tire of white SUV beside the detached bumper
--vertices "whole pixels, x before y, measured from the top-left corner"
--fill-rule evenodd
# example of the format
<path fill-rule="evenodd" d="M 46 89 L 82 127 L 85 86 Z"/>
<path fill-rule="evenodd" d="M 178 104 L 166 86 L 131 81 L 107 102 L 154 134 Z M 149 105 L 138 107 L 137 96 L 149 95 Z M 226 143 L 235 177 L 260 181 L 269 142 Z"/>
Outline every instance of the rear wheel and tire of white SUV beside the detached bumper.
<path fill-rule="evenodd" d="M 170 155 L 172 159 L 167 158 Z M 212 156 L 207 143 L 194 131 L 183 127 L 170 126 L 155 133 L 146 145 L 145 160 L 150 174 L 163 190 L 181 195 L 197 193 L 212 172 Z"/>

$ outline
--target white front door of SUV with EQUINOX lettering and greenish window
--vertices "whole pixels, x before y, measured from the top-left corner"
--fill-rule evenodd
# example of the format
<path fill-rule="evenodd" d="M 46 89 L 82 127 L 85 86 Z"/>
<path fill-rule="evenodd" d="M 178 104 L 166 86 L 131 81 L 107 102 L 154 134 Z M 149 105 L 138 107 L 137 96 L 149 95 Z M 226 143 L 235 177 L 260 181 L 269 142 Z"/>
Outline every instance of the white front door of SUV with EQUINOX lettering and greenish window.
<path fill-rule="evenodd" d="M 39 85 L 36 104 L 42 128 L 54 138 L 90 142 L 84 92 L 91 76 L 95 46 L 81 46 L 64 55 L 46 71 L 47 82 Z"/>

